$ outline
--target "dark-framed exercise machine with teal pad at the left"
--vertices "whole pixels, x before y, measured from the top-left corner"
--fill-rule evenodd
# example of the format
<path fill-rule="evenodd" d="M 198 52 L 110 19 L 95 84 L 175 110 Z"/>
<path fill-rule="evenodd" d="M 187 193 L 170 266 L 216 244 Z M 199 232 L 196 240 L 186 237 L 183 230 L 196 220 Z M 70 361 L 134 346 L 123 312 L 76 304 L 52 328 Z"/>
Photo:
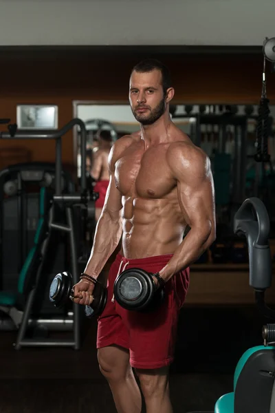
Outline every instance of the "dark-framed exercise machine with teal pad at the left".
<path fill-rule="evenodd" d="M 1 119 L 0 123 L 10 123 L 10 119 Z M 74 228 L 74 215 L 73 207 L 80 205 L 85 210 L 85 213 L 89 213 L 89 217 L 94 216 L 95 201 L 98 198 L 98 194 L 92 190 L 87 189 L 85 162 L 81 164 L 81 176 L 80 176 L 80 189 L 76 193 L 66 193 L 62 189 L 62 138 L 72 129 L 72 127 L 78 125 L 80 127 L 80 151 L 82 159 L 85 159 L 86 153 L 86 129 L 82 120 L 75 118 L 72 119 L 67 125 L 58 131 L 20 131 L 17 130 L 17 125 L 8 125 L 7 132 L 0 133 L 0 139 L 54 139 L 56 142 L 56 160 L 55 160 L 55 183 L 54 194 L 51 195 L 50 209 L 43 211 L 39 221 L 39 227 L 36 230 L 36 236 L 34 239 L 34 246 L 29 252 L 27 257 L 27 264 L 25 263 L 22 271 L 19 275 L 19 291 L 14 293 L 14 296 L 8 295 L 8 292 L 0 291 L 0 310 L 10 315 L 14 324 L 19 328 L 17 335 L 17 342 L 14 344 L 16 349 L 22 346 L 72 346 L 76 350 L 80 348 L 80 306 L 72 304 L 72 312 L 66 319 L 39 319 L 39 324 L 45 326 L 52 326 L 56 329 L 56 326 L 64 325 L 66 322 L 70 324 L 73 330 L 72 339 L 37 339 L 26 338 L 26 332 L 28 326 L 34 322 L 31 318 L 32 307 L 34 305 L 34 299 L 38 294 L 39 283 L 43 279 L 43 264 L 47 259 L 47 251 L 50 246 L 52 237 L 54 237 L 54 231 L 60 231 L 67 235 L 69 240 L 69 258 L 70 267 L 72 272 L 73 281 L 76 284 L 78 282 L 78 257 L 77 257 L 77 242 L 76 231 Z M 1 171 L 3 177 L 7 173 L 8 168 Z M 25 167 L 25 177 L 28 180 L 36 180 L 32 167 Z M 44 191 L 45 195 L 45 191 Z M 41 195 L 43 196 L 43 195 Z M 56 207 L 63 211 L 63 220 L 58 222 L 56 220 Z M 89 211 L 89 212 L 88 212 Z M 3 198 L 0 199 L 0 216 L 3 216 Z M 3 222 L 0 220 L 0 285 L 3 276 Z M 20 296 L 20 297 L 19 297 Z M 23 311 L 20 310 L 19 301 L 22 296 L 25 297 L 25 305 Z M 8 301 L 8 298 L 10 301 Z"/>

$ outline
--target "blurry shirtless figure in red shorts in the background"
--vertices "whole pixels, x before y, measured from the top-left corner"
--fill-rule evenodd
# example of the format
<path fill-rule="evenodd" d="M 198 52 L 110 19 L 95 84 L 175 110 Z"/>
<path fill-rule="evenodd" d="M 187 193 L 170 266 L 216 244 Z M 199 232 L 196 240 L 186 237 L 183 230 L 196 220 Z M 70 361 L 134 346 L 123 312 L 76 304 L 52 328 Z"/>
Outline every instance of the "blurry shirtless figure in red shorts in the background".
<path fill-rule="evenodd" d="M 111 132 L 107 130 L 100 131 L 98 137 L 98 150 L 94 153 L 93 167 L 91 168 L 91 177 L 96 180 L 94 191 L 99 193 L 96 200 L 96 222 L 100 217 L 104 205 L 107 188 L 109 185 L 109 166 L 108 158 L 113 144 Z"/>

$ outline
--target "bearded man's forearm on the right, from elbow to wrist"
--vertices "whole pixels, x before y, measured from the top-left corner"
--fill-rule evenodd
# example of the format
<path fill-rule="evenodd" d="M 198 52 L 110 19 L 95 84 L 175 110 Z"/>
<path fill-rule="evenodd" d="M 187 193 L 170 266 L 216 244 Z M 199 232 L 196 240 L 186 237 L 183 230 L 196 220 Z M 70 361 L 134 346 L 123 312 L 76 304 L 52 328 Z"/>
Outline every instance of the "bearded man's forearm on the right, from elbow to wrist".
<path fill-rule="evenodd" d="M 173 257 L 159 271 L 159 275 L 164 281 L 167 282 L 175 273 L 197 261 L 201 254 L 214 242 L 214 232 L 208 229 L 204 231 L 202 229 L 190 229 L 184 240 L 177 247 Z"/>

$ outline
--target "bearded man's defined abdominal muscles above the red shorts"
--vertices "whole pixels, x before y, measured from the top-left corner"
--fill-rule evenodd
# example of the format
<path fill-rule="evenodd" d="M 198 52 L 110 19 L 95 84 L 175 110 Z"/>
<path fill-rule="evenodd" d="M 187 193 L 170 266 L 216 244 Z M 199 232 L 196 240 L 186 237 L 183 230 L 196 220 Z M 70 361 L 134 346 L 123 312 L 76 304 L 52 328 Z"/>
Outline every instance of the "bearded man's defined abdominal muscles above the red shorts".
<path fill-rule="evenodd" d="M 173 254 L 185 228 L 176 200 L 124 199 L 120 253 L 129 260 Z"/>

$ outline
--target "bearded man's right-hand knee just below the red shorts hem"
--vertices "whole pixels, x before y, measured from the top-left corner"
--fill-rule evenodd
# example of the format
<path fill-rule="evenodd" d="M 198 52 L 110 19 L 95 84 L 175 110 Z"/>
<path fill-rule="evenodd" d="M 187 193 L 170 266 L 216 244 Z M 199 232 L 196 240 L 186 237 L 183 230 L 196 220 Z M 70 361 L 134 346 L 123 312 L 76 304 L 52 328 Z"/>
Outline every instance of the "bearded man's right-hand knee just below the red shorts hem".
<path fill-rule="evenodd" d="M 155 370 L 135 369 L 145 399 L 162 396 L 168 391 L 168 367 Z"/>

